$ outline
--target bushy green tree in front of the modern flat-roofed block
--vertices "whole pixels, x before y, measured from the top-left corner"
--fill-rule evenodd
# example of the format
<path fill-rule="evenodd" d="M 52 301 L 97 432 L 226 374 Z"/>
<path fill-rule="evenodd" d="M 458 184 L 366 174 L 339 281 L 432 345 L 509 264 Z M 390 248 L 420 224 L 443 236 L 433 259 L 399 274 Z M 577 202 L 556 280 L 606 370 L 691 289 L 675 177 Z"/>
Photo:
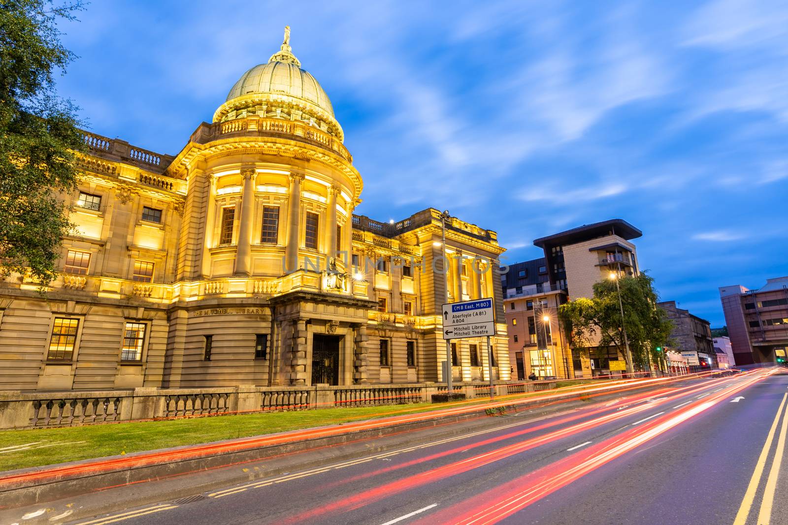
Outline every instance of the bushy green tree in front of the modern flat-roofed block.
<path fill-rule="evenodd" d="M 670 342 L 673 324 L 656 303 L 654 279 L 645 272 L 619 279 L 626 335 L 634 369 L 663 360 L 661 349 Z M 593 286 L 593 298 L 578 298 L 559 308 L 559 320 L 573 348 L 613 346 L 626 359 L 619 292 L 615 282 L 603 280 Z M 660 350 L 658 350 L 660 349 Z"/>

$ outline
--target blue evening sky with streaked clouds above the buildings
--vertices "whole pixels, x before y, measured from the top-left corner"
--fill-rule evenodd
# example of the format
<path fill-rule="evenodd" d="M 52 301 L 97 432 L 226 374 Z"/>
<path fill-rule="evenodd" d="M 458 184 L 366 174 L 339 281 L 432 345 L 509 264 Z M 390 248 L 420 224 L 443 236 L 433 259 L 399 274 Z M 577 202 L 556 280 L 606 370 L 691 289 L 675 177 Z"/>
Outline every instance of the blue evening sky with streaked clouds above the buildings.
<path fill-rule="evenodd" d="M 64 24 L 89 128 L 177 153 L 285 24 L 365 189 L 534 238 L 622 218 L 663 300 L 788 275 L 785 2 L 102 2 Z"/>

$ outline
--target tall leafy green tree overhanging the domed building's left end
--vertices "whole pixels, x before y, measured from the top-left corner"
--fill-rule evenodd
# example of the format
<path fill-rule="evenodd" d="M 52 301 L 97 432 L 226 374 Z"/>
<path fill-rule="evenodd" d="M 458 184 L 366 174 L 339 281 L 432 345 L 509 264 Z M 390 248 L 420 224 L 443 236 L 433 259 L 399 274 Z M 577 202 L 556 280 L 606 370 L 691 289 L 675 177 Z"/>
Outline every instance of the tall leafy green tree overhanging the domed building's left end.
<path fill-rule="evenodd" d="M 54 92 L 55 72 L 74 58 L 56 24 L 78 9 L 0 0 L 0 275 L 30 272 L 42 285 L 72 231 L 62 196 L 84 149 L 76 108 Z"/>

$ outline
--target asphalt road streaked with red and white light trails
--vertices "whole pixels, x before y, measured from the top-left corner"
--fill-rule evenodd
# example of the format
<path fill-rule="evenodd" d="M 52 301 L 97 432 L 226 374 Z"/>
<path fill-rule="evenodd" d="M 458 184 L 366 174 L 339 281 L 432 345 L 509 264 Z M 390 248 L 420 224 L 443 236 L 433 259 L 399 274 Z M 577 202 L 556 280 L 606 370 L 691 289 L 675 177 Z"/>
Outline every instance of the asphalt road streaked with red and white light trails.
<path fill-rule="evenodd" d="M 788 523 L 786 398 L 705 379 L 74 523 Z"/>

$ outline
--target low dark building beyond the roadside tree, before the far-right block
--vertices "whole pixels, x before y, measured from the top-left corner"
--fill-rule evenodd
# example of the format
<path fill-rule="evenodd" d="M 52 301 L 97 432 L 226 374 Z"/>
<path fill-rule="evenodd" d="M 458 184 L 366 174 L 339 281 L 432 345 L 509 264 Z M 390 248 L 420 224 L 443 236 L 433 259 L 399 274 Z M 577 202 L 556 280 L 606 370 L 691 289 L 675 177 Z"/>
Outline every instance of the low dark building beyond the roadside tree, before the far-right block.
<path fill-rule="evenodd" d="M 667 318 L 673 323 L 671 339 L 674 346 L 671 349 L 677 349 L 685 358 L 689 353 L 697 354 L 697 365 L 693 364 L 692 358 L 689 360 L 690 367 L 695 366 L 697 370 L 717 368 L 711 324 L 689 310 L 678 308 L 676 301 L 662 301 L 657 305 L 667 312 Z"/>

